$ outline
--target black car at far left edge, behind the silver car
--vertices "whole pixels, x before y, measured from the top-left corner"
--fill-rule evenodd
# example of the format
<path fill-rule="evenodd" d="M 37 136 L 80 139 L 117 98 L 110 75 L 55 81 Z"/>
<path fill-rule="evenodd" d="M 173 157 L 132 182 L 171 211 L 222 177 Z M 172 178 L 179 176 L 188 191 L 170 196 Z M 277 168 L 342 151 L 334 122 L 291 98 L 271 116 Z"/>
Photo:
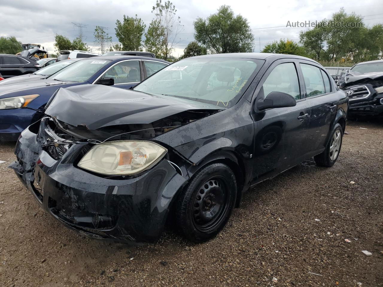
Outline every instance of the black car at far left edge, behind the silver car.
<path fill-rule="evenodd" d="M 5 79 L 34 73 L 40 68 L 38 63 L 27 57 L 0 54 L 0 73 Z"/>

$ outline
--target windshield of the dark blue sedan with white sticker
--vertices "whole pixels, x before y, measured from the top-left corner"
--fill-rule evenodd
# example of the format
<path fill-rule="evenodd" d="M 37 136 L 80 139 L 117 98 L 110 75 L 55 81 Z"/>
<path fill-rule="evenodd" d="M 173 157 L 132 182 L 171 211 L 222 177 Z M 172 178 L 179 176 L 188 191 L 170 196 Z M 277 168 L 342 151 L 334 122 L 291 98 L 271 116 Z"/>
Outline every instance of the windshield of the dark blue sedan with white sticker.
<path fill-rule="evenodd" d="M 110 60 L 83 59 L 75 62 L 69 67 L 57 72 L 48 79 L 59 80 L 62 82 L 82 83 L 89 80 L 102 67 L 108 64 Z"/>

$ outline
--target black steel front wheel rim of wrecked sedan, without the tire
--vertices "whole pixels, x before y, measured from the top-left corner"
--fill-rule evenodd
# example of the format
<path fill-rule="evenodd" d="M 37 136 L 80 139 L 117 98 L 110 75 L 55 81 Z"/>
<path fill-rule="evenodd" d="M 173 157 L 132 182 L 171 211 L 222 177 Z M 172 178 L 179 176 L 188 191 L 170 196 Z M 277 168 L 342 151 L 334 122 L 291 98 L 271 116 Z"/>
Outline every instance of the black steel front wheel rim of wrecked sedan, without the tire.
<path fill-rule="evenodd" d="M 193 201 L 192 220 L 201 232 L 214 230 L 228 210 L 229 189 L 222 176 L 214 176 L 200 186 Z"/>

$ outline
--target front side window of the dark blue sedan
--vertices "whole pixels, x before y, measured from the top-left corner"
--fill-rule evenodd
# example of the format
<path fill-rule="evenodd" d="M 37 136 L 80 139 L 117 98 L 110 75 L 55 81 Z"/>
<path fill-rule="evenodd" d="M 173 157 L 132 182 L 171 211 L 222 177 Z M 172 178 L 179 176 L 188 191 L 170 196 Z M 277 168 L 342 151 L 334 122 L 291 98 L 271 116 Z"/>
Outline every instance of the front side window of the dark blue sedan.
<path fill-rule="evenodd" d="M 138 61 L 125 61 L 114 65 L 102 76 L 115 80 L 115 84 L 126 84 L 141 82 L 140 64 Z"/>

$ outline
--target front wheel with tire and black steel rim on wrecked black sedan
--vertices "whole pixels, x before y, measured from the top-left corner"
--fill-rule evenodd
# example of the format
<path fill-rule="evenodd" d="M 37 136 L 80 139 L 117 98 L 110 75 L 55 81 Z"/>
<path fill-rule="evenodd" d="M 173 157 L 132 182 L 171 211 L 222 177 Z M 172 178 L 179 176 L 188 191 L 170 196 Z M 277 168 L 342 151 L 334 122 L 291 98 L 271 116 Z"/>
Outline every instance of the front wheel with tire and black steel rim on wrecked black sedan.
<path fill-rule="evenodd" d="M 201 243 L 216 236 L 228 222 L 237 197 L 233 171 L 211 163 L 198 171 L 181 192 L 176 223 L 190 241 Z"/>

